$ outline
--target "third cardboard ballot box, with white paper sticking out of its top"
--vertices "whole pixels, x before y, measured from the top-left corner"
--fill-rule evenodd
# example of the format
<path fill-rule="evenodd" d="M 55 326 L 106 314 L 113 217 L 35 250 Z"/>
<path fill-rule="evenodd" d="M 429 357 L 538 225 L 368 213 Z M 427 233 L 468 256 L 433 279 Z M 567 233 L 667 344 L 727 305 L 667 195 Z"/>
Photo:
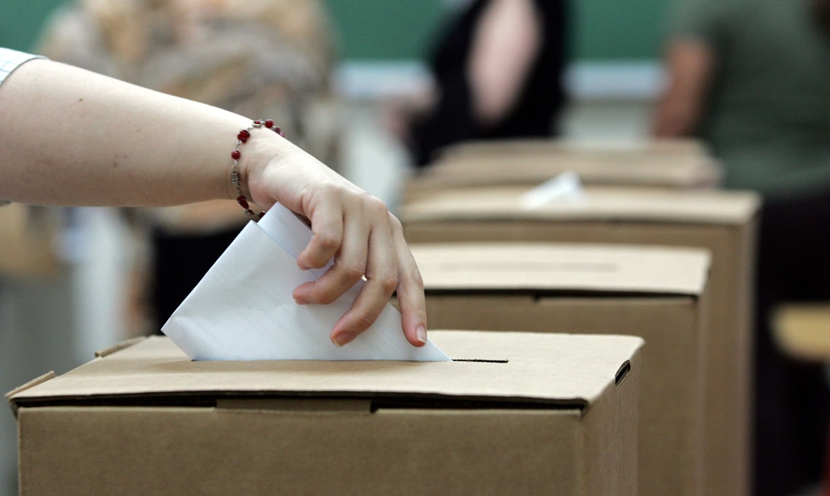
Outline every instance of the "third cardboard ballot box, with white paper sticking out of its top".
<path fill-rule="evenodd" d="M 410 243 L 557 241 L 710 250 L 704 493 L 749 492 L 752 291 L 759 197 L 750 192 L 585 188 L 536 208 L 526 188 L 447 190 L 409 203 Z"/>

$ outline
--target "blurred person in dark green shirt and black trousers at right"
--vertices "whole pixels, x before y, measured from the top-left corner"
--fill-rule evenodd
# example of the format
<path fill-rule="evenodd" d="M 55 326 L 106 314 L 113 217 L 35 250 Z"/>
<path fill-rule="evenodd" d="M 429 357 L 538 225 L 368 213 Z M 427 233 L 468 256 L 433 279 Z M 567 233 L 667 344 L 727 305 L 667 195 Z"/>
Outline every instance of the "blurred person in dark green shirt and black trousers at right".
<path fill-rule="evenodd" d="M 764 197 L 755 299 L 754 494 L 821 477 L 823 367 L 785 356 L 770 313 L 830 299 L 830 1 L 682 0 L 666 40 L 653 134 L 700 136 L 725 187 Z"/>

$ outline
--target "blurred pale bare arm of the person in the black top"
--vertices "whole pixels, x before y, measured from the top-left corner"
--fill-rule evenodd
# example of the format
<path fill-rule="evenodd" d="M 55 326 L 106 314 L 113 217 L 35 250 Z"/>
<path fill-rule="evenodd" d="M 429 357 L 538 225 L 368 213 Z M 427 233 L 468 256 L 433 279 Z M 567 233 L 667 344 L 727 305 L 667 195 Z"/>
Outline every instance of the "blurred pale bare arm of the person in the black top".
<path fill-rule="evenodd" d="M 530 0 L 492 0 L 482 14 L 467 66 L 481 124 L 498 122 L 519 97 L 541 49 L 539 17 Z"/>

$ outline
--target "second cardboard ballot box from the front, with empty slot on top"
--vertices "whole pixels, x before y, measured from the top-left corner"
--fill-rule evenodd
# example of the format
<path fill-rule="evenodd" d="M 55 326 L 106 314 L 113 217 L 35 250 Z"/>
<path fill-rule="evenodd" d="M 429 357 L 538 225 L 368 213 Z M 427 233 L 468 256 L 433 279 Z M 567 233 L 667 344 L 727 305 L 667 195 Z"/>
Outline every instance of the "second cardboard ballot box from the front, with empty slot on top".
<path fill-rule="evenodd" d="M 437 328 L 642 337 L 639 494 L 703 494 L 706 250 L 412 245 Z"/>

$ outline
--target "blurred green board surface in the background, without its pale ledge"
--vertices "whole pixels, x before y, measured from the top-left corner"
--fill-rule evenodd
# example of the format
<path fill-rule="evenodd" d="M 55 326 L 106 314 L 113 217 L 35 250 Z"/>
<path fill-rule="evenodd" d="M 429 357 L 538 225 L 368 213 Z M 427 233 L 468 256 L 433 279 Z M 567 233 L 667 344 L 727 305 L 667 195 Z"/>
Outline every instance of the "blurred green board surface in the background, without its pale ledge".
<path fill-rule="evenodd" d="M 48 13 L 65 0 L 0 0 L 0 46 L 31 50 Z M 579 60 L 624 61 L 658 55 L 668 0 L 572 0 Z M 446 0 L 325 0 L 348 60 L 417 59 L 443 18 Z"/>

